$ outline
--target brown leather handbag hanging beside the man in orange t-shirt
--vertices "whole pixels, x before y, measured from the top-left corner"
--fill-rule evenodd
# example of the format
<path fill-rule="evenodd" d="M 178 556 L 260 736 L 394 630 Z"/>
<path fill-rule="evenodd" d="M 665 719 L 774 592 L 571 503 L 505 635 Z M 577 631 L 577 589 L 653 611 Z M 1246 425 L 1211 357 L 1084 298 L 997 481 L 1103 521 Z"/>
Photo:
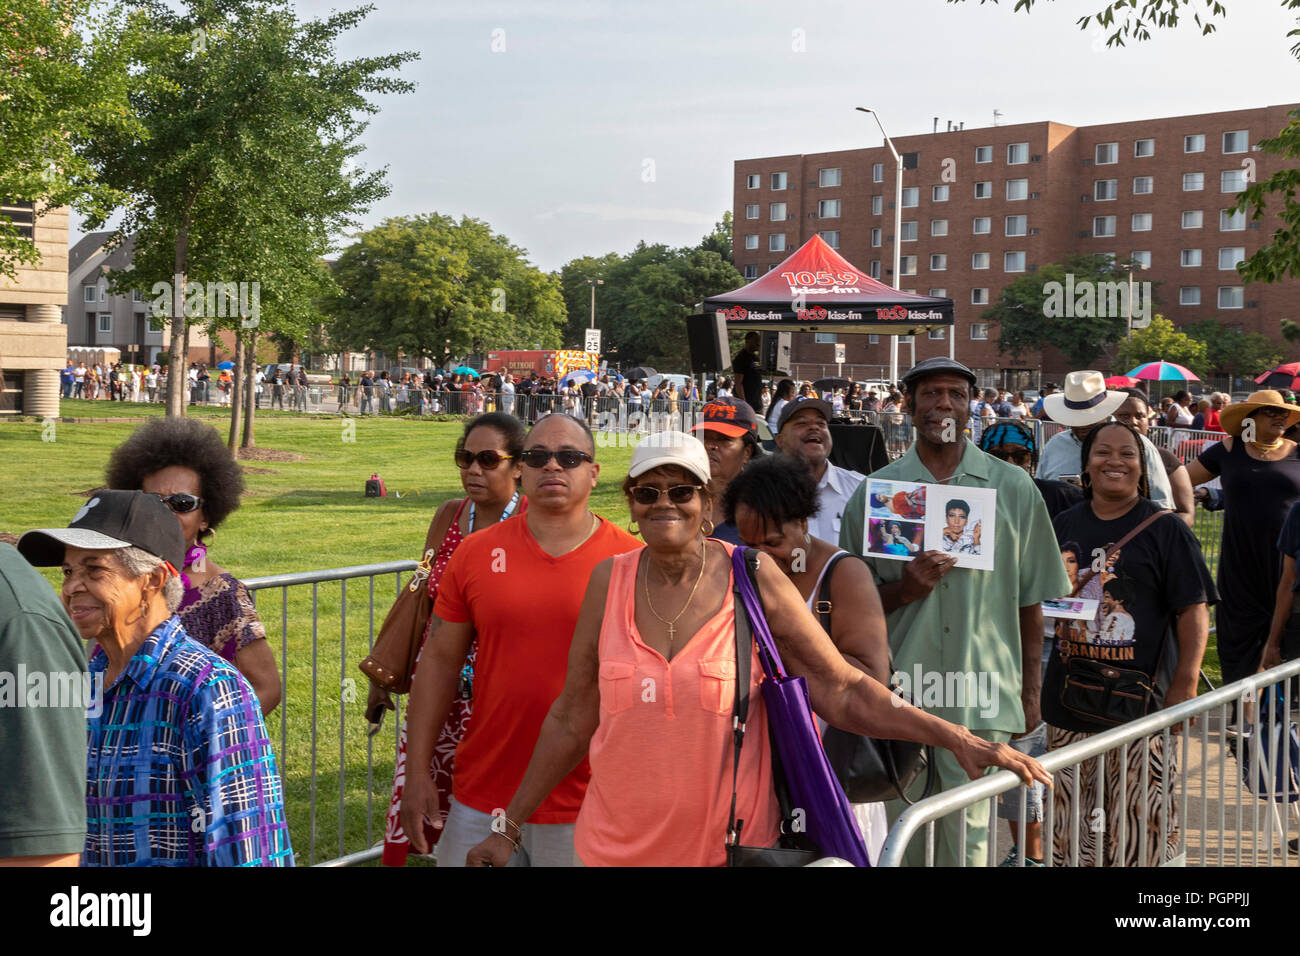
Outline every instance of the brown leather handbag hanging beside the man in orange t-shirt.
<path fill-rule="evenodd" d="M 446 527 L 439 525 L 443 523 L 437 519 L 429 524 L 420 566 L 393 602 L 370 653 L 358 665 L 372 684 L 370 700 L 367 702 L 367 718 L 372 724 L 380 723 L 382 710 L 394 709 L 389 695 L 411 692 L 415 658 L 420 653 L 420 641 L 433 614 L 429 572 L 433 570 L 433 559 L 450 522 Z"/>

